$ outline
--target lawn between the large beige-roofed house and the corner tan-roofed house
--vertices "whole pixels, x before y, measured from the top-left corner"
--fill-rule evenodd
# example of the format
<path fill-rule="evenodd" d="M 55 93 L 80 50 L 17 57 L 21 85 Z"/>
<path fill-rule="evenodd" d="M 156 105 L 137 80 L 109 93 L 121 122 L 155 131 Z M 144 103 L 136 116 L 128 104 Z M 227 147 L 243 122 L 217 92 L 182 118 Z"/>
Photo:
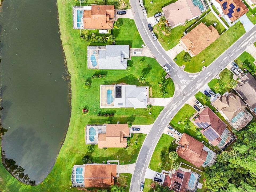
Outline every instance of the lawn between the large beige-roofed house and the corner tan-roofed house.
<path fill-rule="evenodd" d="M 209 12 L 210 12 L 210 9 L 204 12 L 200 16 L 200 18 L 202 18 L 204 15 L 206 15 Z M 153 31 L 157 36 L 158 41 L 161 43 L 163 48 L 167 51 L 169 49 L 172 49 L 175 45 L 179 43 L 179 39 L 184 36 L 183 32 L 186 31 L 189 27 L 191 27 L 196 21 L 197 20 L 192 19 L 191 21 L 189 21 L 187 25 L 180 25 L 180 26 L 174 27 L 170 35 L 164 35 L 159 25 L 153 26 Z"/>

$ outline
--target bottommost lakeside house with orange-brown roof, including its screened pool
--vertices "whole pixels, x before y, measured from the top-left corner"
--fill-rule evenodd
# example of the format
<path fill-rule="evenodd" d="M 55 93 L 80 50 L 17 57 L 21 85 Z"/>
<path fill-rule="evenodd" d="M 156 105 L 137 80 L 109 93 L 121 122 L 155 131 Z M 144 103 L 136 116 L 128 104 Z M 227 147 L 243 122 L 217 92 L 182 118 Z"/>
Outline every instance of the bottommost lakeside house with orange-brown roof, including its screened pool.
<path fill-rule="evenodd" d="M 117 177 L 116 164 L 74 165 L 71 174 L 73 187 L 110 187 Z"/>

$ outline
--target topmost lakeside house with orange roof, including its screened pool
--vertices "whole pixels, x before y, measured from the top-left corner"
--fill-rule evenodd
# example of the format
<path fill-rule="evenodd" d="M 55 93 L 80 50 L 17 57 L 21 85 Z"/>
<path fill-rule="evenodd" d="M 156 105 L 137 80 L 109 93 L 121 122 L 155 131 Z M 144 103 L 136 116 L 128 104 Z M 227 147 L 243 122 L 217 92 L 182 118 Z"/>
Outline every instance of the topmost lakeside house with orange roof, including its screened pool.
<path fill-rule="evenodd" d="M 113 29 L 114 5 L 73 6 L 74 29 Z"/>

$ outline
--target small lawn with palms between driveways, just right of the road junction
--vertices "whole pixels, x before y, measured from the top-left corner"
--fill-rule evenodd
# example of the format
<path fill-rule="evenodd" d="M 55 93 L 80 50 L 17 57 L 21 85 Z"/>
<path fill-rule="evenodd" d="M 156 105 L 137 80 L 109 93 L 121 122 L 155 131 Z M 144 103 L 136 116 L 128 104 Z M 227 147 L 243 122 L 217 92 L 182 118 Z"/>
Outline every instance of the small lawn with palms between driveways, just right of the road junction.
<path fill-rule="evenodd" d="M 223 71 L 221 71 L 221 73 L 219 74 L 220 79 L 212 79 L 208 85 L 211 88 L 211 90 L 214 91 L 214 93 L 219 93 L 220 95 L 223 95 L 226 91 L 230 91 L 230 88 L 227 86 L 227 83 L 233 79 L 233 73 L 228 70 L 228 69 L 224 69 Z M 221 83 L 225 83 L 226 86 L 224 89 L 220 89 L 217 90 L 217 88 L 215 88 L 215 85 L 217 85 L 217 83 L 221 84 Z"/>

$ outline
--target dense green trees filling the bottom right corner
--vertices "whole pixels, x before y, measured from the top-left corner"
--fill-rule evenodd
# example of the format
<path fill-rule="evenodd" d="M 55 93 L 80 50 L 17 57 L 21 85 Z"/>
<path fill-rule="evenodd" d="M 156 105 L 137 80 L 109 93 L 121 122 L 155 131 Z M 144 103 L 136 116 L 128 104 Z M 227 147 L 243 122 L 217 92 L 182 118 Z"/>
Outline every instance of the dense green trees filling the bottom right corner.
<path fill-rule="evenodd" d="M 233 149 L 223 151 L 216 163 L 206 168 L 207 191 L 256 192 L 256 123 L 235 135 Z"/>

